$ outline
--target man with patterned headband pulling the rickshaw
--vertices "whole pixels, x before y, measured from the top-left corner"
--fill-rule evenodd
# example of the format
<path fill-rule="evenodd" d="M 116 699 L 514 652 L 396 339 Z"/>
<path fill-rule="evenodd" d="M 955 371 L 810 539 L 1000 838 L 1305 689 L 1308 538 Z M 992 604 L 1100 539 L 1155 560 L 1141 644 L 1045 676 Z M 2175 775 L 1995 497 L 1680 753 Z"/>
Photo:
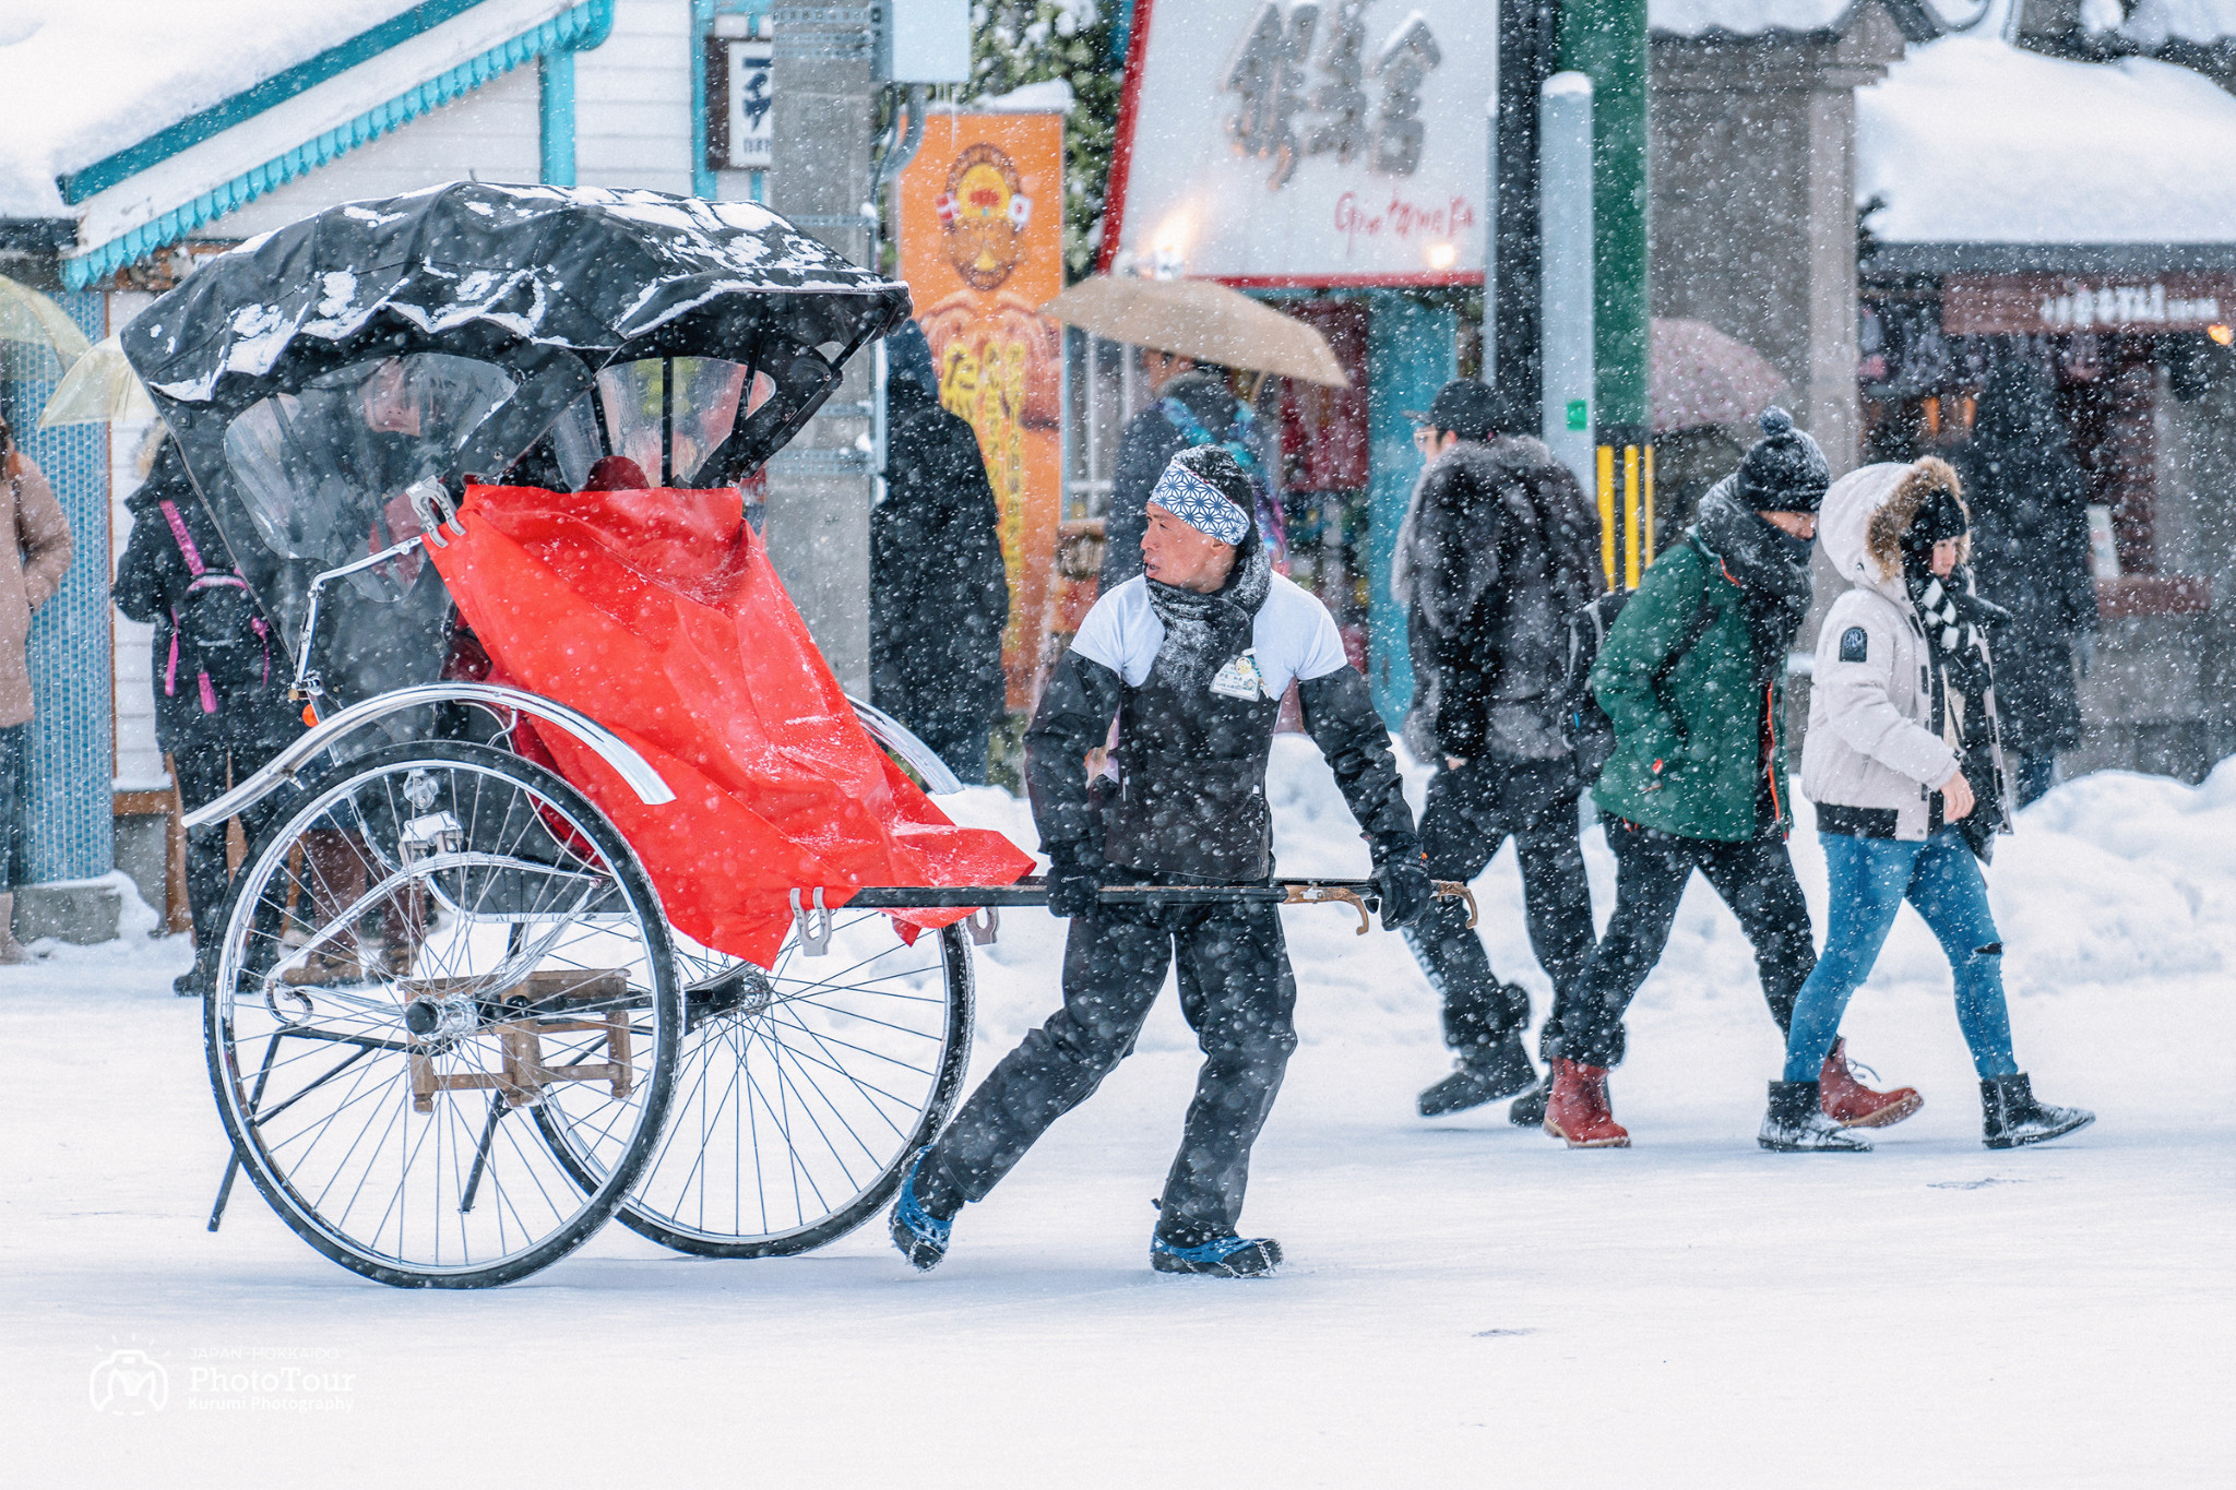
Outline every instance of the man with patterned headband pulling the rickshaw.
<path fill-rule="evenodd" d="M 1225 449 L 1174 456 L 1145 505 L 1143 574 L 1096 601 L 1040 697 L 1024 780 L 1049 909 L 1071 918 L 1064 1007 L 986 1074 L 901 1182 L 892 1242 L 917 1269 L 946 1255 L 964 1204 L 1127 1057 L 1174 965 L 1203 1070 L 1149 1264 L 1252 1278 L 1281 1262 L 1272 1238 L 1237 1235 L 1250 1146 L 1297 1048 L 1279 911 L 1102 905 L 1100 887 L 1272 878 L 1266 762 L 1290 679 L 1373 849 L 1382 923 L 1413 923 L 1433 887 L 1366 679 L 1328 610 L 1272 572 L 1250 505 L 1250 476 Z M 1084 762 L 1111 719 L 1118 780 L 1089 784 Z"/>

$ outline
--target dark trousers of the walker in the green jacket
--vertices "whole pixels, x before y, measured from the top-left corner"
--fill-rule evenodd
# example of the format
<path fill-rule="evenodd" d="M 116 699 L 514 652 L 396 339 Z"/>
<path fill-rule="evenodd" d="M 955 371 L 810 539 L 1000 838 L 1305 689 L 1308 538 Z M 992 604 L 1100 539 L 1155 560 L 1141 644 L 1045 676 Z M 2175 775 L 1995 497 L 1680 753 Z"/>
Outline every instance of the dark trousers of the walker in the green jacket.
<path fill-rule="evenodd" d="M 1614 916 L 1599 938 L 1576 994 L 1554 1003 L 1556 1052 L 1581 1066 L 1623 1059 L 1623 1012 L 1668 947 L 1686 880 L 1699 869 L 1724 898 L 1755 947 L 1762 996 L 1780 1034 L 1793 1023 L 1793 1001 L 1816 967 L 1809 905 L 1782 838 L 1715 842 L 1675 838 L 1608 818 L 1614 849 Z"/>

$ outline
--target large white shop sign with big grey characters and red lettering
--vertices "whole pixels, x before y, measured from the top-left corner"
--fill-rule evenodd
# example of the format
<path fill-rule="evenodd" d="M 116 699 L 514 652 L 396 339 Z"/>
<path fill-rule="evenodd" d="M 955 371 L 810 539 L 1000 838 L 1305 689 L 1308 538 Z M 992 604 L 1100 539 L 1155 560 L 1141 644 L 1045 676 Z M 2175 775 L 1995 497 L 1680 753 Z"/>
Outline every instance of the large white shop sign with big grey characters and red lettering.
<path fill-rule="evenodd" d="M 1138 0 L 1105 268 L 1482 277 L 1496 0 Z"/>

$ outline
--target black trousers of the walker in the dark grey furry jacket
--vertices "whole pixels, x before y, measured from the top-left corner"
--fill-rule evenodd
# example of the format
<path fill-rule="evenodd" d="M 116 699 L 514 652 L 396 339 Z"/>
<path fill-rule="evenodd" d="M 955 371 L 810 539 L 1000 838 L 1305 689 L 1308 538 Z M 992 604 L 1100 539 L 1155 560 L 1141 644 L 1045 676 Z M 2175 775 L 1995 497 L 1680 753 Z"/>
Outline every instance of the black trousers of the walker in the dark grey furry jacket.
<path fill-rule="evenodd" d="M 1514 840 L 1529 949 L 1552 978 L 1556 999 L 1574 987 L 1592 958 L 1592 889 L 1576 842 L 1576 777 L 1565 762 L 1467 762 L 1436 773 L 1420 818 L 1422 851 L 1438 880 L 1474 880 L 1498 847 Z M 1527 994 L 1518 987 L 1509 992 L 1491 974 L 1482 938 L 1467 929 L 1462 902 L 1433 902 L 1404 938 L 1429 985 L 1444 996 L 1444 1043 L 1451 1050 L 1465 1057 L 1529 1025 Z"/>

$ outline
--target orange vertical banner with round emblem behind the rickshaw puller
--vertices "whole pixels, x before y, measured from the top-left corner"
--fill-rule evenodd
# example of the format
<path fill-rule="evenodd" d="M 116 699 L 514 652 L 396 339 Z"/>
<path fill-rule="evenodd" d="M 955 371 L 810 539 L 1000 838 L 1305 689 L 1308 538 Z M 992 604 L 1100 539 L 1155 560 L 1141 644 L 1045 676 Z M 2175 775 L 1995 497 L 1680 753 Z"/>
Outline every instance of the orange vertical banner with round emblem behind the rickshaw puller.
<path fill-rule="evenodd" d="M 901 279 L 970 420 L 1002 509 L 1008 706 L 1029 708 L 1049 637 L 1062 512 L 1062 340 L 1040 306 L 1064 288 L 1062 114 L 932 114 L 899 181 Z"/>

